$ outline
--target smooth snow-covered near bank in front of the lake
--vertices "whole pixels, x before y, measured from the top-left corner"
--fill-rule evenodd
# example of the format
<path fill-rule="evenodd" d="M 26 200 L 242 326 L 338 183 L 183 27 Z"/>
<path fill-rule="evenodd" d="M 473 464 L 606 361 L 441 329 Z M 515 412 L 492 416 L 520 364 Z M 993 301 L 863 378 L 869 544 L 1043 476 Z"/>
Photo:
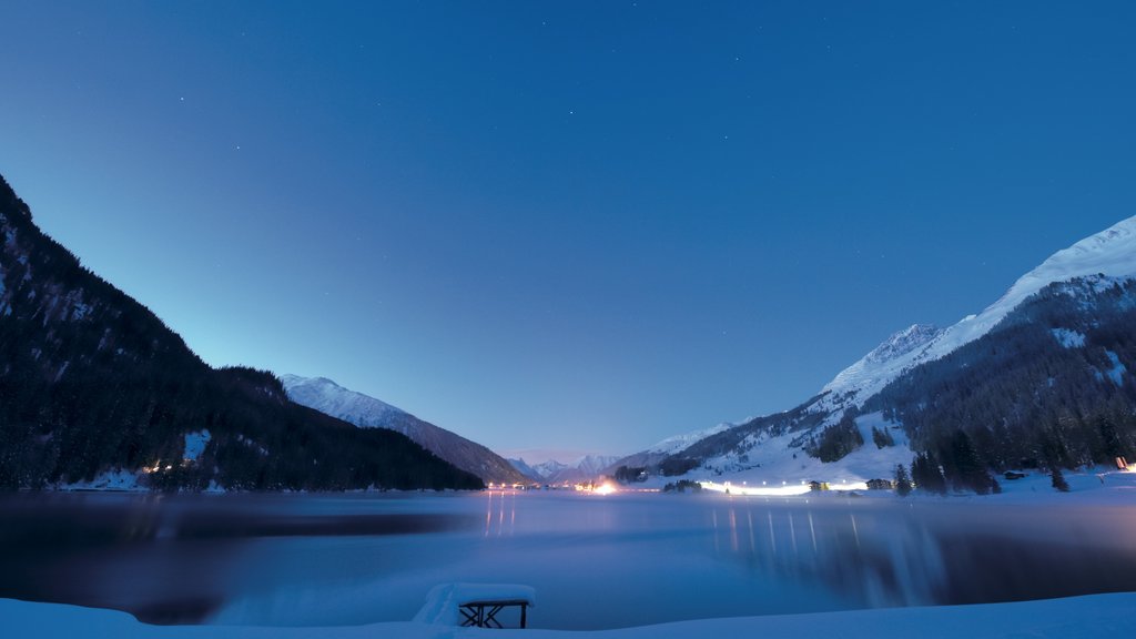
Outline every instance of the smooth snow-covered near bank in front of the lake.
<path fill-rule="evenodd" d="M 715 619 L 591 632 L 554 630 L 482 630 L 426 623 L 377 623 L 336 628 L 250 628 L 217 625 L 147 625 L 126 613 L 60 604 L 0 599 L 0 628 L 8 638 L 34 637 L 116 639 L 450 639 L 462 637 L 669 639 L 691 637 L 762 637 L 793 639 L 1100 639 L 1136 633 L 1136 594 L 1095 595 L 1069 599 L 885 608 L 810 615 Z"/>

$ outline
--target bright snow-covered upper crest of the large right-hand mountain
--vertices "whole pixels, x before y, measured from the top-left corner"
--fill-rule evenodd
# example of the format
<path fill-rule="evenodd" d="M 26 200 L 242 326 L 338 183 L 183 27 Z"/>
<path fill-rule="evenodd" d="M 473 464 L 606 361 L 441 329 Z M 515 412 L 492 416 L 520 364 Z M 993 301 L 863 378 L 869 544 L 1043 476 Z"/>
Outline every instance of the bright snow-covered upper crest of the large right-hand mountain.
<path fill-rule="evenodd" d="M 924 362 L 945 357 L 982 338 L 1026 298 L 1044 287 L 1095 275 L 1117 279 L 1136 276 L 1136 216 L 1053 254 L 1041 266 L 1019 277 L 1005 294 L 978 315 L 969 315 L 937 334 L 926 330 L 916 331 L 914 337 L 930 337 L 925 343 L 913 340 L 913 348 L 910 350 L 885 349 L 892 354 L 889 358 L 874 358 L 874 354 L 879 350 L 877 348 L 825 385 L 822 391 L 828 391 L 829 395 L 817 403 L 813 409 L 835 410 L 846 406 L 846 401 L 861 405 L 903 372 Z M 912 326 L 893 335 L 880 348 L 917 327 Z"/>

